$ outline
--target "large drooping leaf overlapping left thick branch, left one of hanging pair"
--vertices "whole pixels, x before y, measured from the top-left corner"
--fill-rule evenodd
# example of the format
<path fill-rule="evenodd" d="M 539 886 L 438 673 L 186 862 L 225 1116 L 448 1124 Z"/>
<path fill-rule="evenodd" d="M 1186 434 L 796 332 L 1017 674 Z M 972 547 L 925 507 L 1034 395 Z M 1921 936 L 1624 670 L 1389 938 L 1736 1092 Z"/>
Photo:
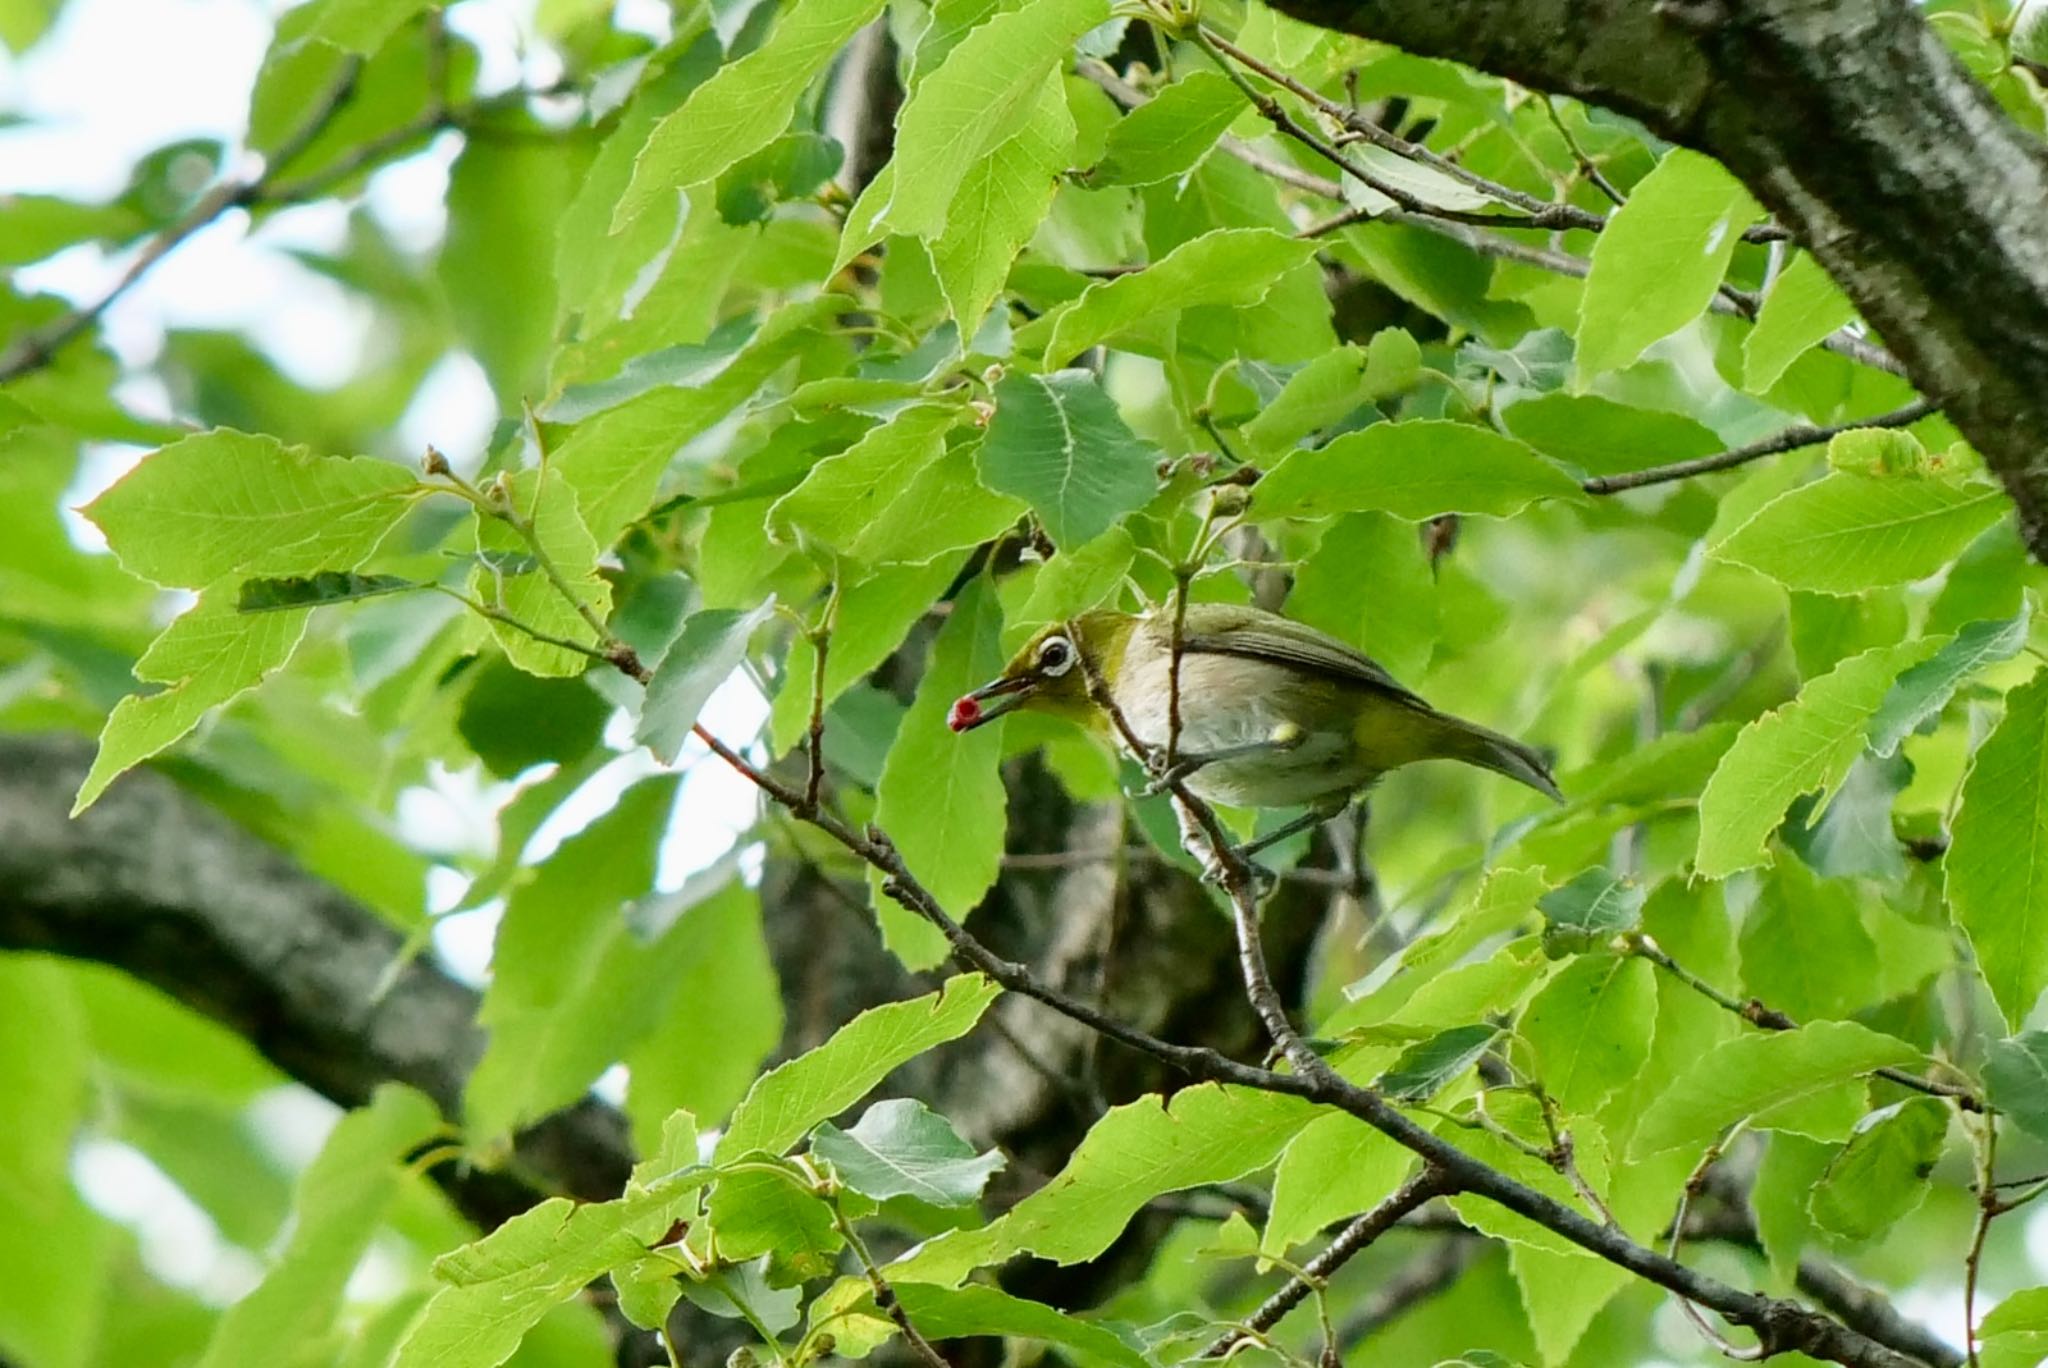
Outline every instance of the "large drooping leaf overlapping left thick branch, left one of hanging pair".
<path fill-rule="evenodd" d="M 477 1012 L 489 1038 L 463 1092 L 475 1135 L 580 1098 L 668 1003 L 676 944 L 641 942 L 625 911 L 653 885 L 674 803 L 674 778 L 635 784 L 514 889 Z"/>

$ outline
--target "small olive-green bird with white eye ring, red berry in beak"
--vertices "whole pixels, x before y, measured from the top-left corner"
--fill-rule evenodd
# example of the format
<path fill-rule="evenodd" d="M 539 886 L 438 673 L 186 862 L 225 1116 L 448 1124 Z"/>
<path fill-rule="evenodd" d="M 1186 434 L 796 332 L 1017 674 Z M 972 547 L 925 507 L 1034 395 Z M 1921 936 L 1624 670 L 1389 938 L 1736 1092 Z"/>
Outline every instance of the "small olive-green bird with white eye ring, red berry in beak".
<path fill-rule="evenodd" d="M 1038 631 L 1001 676 L 952 704 L 946 725 L 971 731 L 1030 709 L 1124 743 L 1096 702 L 1094 680 L 1130 735 L 1159 754 L 1171 727 L 1171 659 L 1167 610 L 1085 612 Z M 1337 815 L 1380 774 L 1417 760 L 1462 760 L 1565 801 L 1542 756 L 1522 741 L 1438 713 L 1335 637 L 1237 604 L 1188 604 L 1174 750 L 1174 768 L 1159 784 L 1184 780 L 1188 793 L 1233 807 L 1309 809 L 1241 854 Z M 1212 864 L 1186 813 L 1182 836 Z"/>

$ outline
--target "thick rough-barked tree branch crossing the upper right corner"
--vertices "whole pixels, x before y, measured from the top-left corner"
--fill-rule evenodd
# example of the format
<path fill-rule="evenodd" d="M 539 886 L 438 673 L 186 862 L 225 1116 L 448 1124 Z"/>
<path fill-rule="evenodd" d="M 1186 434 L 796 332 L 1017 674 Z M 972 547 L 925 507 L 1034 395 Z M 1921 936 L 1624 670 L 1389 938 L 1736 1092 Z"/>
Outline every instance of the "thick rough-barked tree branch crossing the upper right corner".
<path fill-rule="evenodd" d="M 1907 0 L 1278 0 L 1708 152 L 2005 481 L 2048 561 L 2048 152 Z"/>

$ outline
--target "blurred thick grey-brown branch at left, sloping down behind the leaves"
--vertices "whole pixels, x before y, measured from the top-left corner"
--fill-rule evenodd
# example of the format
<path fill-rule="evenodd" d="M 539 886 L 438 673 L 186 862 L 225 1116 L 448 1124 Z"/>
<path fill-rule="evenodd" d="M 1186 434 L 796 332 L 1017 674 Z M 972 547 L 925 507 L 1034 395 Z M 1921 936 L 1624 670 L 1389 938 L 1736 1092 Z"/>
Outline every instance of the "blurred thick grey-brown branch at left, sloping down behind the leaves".
<path fill-rule="evenodd" d="M 379 995 L 403 938 L 160 774 L 129 774 L 68 819 L 90 760 L 82 739 L 0 737 L 0 948 L 127 971 L 340 1106 L 397 1079 L 461 1114 L 483 1051 L 471 989 L 414 960 Z M 516 1165 L 604 1200 L 633 1151 L 625 1120 L 584 1102 L 522 1132 Z M 457 1165 L 436 1180 L 483 1229 L 545 1196 Z"/>

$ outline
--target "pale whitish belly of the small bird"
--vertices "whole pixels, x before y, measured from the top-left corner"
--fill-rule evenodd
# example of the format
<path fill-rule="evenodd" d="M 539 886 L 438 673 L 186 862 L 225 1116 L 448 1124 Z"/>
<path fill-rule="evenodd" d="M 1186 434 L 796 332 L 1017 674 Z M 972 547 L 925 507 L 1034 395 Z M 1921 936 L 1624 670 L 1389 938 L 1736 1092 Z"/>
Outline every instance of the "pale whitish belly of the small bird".
<path fill-rule="evenodd" d="M 1167 696 L 1167 664 L 1139 664 L 1126 655 L 1116 698 L 1130 731 L 1147 745 L 1165 745 Z M 1194 760 L 1241 745 L 1262 747 L 1188 776 L 1188 790 L 1210 803 L 1311 807 L 1341 799 L 1376 774 L 1348 727 L 1329 729 L 1327 700 L 1315 698 L 1313 686 L 1305 688 L 1294 672 L 1255 659 L 1184 655 L 1180 698 L 1180 756 Z M 1272 747 L 1290 727 L 1300 741 Z"/>

